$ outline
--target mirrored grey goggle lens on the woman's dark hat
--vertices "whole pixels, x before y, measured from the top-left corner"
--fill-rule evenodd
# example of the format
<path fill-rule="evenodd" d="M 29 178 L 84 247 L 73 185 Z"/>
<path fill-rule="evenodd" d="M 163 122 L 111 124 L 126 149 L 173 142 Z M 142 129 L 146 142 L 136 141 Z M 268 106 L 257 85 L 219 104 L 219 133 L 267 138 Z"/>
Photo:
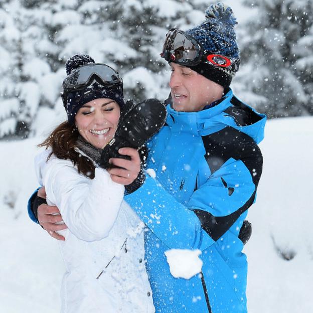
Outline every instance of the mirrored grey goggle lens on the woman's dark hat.
<path fill-rule="evenodd" d="M 88 66 L 82 66 L 74 71 L 74 73 L 64 82 L 64 88 L 86 84 L 93 74 L 96 74 L 106 83 L 121 83 L 118 73 L 112 68 L 103 64 L 91 64 Z"/>

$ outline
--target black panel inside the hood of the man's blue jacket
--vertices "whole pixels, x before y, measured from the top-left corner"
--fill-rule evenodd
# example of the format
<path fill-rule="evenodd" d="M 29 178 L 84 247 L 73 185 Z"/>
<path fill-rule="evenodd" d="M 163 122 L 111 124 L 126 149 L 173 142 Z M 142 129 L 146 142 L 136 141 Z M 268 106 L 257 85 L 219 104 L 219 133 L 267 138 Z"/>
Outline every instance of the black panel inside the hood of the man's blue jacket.
<path fill-rule="evenodd" d="M 236 97 L 232 97 L 230 103 L 233 106 L 228 107 L 224 112 L 231 115 L 238 126 L 252 125 L 262 119 L 261 116 L 243 105 Z"/>

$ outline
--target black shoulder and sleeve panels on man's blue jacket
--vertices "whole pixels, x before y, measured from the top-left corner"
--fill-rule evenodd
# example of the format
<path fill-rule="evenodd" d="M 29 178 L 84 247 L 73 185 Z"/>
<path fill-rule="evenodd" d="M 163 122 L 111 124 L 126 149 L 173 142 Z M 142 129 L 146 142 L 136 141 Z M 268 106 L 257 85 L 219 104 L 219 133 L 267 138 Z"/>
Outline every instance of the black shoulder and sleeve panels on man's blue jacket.
<path fill-rule="evenodd" d="M 216 217 L 203 210 L 194 210 L 202 228 L 216 241 L 253 204 L 256 188 L 262 173 L 263 158 L 259 147 L 250 136 L 230 126 L 213 134 L 203 136 L 202 140 L 206 150 L 205 159 L 210 167 L 211 175 L 229 159 L 241 160 L 250 172 L 255 185 L 255 191 L 250 199 L 230 215 Z M 228 187 L 222 177 L 221 181 L 224 187 L 228 188 L 228 195 L 231 197 L 234 188 Z"/>

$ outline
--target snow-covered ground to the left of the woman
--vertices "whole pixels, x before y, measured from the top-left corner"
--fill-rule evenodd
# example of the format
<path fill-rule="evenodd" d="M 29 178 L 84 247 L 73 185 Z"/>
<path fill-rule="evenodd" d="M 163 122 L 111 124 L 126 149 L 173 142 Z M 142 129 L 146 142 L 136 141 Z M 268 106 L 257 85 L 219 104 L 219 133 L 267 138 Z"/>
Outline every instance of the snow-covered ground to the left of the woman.
<path fill-rule="evenodd" d="M 42 138 L 41 138 L 42 139 Z M 55 313 L 63 261 L 58 244 L 28 218 L 37 188 L 36 145 L 41 139 L 0 142 L 0 312 Z"/>

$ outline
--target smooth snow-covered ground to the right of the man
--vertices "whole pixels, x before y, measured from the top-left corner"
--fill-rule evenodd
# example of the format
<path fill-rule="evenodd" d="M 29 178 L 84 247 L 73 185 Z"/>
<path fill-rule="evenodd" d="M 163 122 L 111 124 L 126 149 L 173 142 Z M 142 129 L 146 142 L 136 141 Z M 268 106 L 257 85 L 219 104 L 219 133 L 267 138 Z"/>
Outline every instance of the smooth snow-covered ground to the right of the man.
<path fill-rule="evenodd" d="M 265 126 L 263 174 L 248 213 L 252 237 L 245 247 L 249 313 L 313 310 L 312 138 L 312 117 Z M 277 249 L 295 256 L 287 261 Z"/>

